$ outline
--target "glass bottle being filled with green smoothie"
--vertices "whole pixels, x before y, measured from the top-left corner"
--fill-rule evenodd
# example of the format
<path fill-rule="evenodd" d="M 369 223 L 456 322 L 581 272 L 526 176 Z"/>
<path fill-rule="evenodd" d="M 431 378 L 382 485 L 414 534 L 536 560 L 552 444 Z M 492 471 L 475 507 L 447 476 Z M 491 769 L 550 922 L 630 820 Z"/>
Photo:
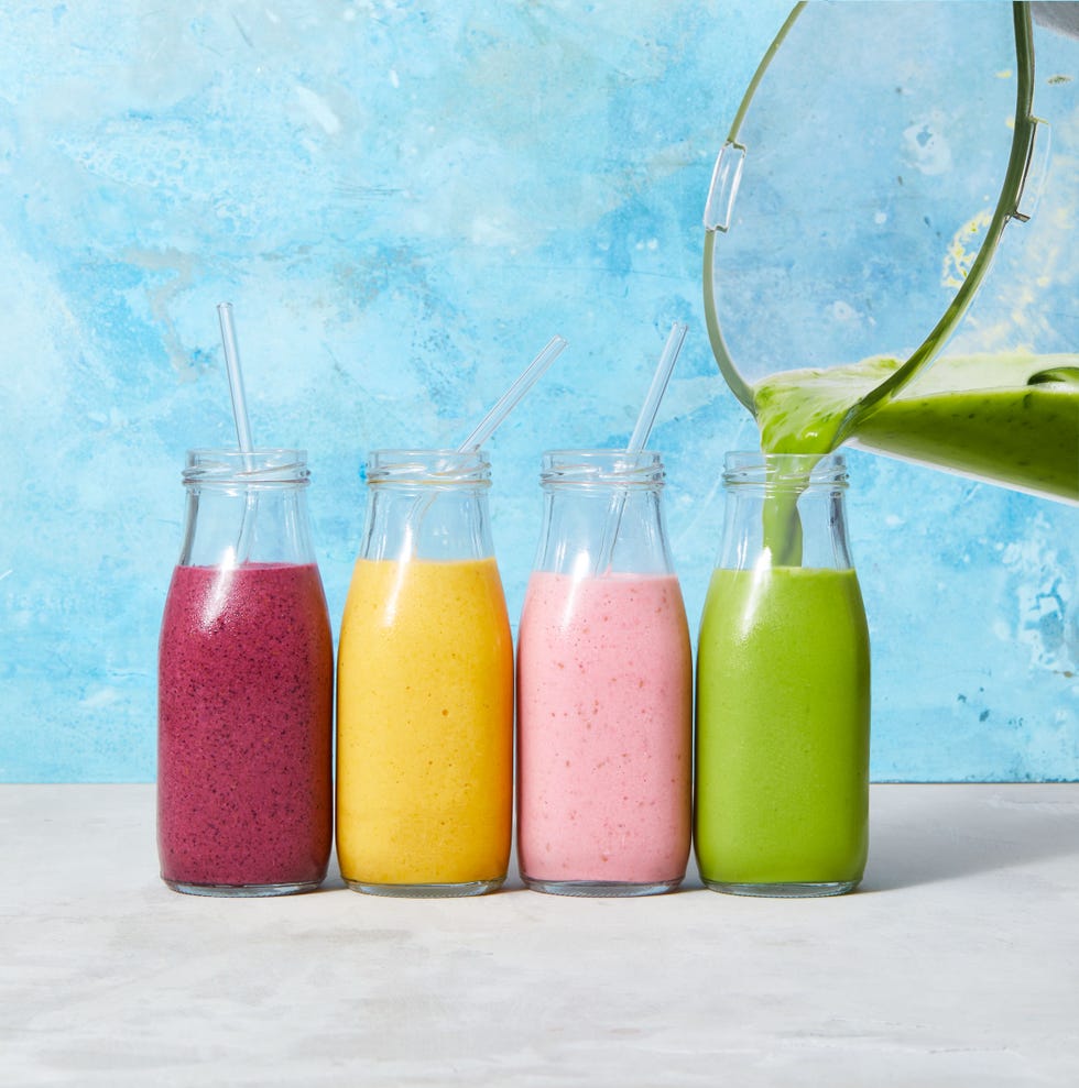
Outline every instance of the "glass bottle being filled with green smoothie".
<path fill-rule="evenodd" d="M 842 455 L 729 453 L 697 653 L 695 847 L 716 891 L 851 891 L 868 847 L 870 649 Z"/>

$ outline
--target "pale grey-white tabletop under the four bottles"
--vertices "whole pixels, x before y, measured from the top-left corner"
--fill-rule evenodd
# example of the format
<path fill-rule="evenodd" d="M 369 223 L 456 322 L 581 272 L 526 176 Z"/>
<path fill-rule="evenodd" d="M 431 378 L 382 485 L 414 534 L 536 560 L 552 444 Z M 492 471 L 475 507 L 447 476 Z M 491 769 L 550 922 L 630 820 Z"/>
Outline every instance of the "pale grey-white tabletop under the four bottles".
<path fill-rule="evenodd" d="M 873 787 L 803 901 L 203 899 L 153 813 L 0 787 L 0 1084 L 1079 1085 L 1079 784 Z"/>

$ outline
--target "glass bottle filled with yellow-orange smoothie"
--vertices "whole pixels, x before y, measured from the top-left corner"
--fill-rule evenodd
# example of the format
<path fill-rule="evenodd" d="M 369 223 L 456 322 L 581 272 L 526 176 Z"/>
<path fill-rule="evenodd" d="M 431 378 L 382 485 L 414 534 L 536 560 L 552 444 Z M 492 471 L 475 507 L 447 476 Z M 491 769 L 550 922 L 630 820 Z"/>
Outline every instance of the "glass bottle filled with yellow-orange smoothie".
<path fill-rule="evenodd" d="M 505 879 L 513 644 L 480 451 L 377 450 L 337 672 L 337 855 L 356 891 Z"/>

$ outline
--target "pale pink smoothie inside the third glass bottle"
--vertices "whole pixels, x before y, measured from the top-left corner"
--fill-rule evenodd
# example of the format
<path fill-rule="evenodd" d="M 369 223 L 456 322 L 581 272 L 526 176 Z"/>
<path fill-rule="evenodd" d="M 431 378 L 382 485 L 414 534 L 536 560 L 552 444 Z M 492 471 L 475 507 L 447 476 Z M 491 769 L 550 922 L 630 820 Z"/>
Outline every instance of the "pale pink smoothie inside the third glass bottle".
<path fill-rule="evenodd" d="M 676 884 L 689 855 L 693 703 L 677 579 L 534 573 L 517 668 L 526 882 Z"/>

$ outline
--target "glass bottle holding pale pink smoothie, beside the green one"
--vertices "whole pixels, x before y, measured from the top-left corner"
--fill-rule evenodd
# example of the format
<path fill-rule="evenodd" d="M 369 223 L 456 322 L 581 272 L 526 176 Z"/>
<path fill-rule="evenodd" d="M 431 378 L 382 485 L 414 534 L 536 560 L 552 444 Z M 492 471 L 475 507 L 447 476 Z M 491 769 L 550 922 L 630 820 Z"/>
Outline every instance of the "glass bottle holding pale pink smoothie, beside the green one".
<path fill-rule="evenodd" d="M 526 887 L 647 895 L 689 856 L 693 667 L 657 453 L 544 455 L 517 650 Z"/>

